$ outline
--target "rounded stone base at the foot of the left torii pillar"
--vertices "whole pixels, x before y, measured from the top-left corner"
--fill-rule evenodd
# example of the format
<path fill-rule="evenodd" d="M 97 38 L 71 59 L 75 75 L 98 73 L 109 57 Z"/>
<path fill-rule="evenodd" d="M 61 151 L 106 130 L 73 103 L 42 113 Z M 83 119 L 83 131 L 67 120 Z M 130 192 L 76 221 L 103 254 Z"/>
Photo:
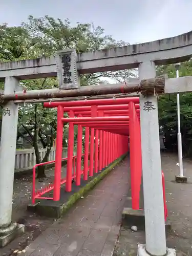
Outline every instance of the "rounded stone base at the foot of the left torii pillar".
<path fill-rule="evenodd" d="M 23 224 L 12 223 L 7 228 L 0 228 L 0 248 L 9 244 L 17 236 L 24 233 L 25 226 Z"/>

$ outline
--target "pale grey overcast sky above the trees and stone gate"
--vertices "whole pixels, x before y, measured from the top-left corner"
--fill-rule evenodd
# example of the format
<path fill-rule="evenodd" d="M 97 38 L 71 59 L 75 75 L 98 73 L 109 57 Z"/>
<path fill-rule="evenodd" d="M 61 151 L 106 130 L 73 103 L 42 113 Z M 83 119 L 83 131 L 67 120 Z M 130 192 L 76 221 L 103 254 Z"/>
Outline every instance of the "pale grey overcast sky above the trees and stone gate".
<path fill-rule="evenodd" d="M 0 0 L 0 24 L 17 26 L 29 15 L 69 18 L 101 26 L 116 40 L 152 41 L 192 30 L 192 0 Z"/>

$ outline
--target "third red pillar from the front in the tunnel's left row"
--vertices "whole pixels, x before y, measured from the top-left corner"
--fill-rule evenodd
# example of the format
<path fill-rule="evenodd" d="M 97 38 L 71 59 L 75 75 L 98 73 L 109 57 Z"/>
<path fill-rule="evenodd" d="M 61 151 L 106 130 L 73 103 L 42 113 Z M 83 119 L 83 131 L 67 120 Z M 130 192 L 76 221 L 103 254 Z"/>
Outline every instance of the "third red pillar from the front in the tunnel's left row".
<path fill-rule="evenodd" d="M 80 114 L 79 117 L 82 115 Z M 78 124 L 77 131 L 77 167 L 76 167 L 76 186 L 81 184 L 81 157 L 82 157 L 82 125 Z"/>

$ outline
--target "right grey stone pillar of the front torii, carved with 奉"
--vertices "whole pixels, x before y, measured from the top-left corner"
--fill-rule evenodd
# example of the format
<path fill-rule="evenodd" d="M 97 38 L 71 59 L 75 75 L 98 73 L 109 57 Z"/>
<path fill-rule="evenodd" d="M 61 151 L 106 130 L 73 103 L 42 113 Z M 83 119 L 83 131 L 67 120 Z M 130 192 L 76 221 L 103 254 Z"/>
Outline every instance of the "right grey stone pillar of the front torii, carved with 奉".
<path fill-rule="evenodd" d="M 140 63 L 139 80 L 155 76 L 153 61 Z M 146 245 L 138 245 L 138 255 L 162 256 L 166 237 L 156 96 L 140 95 L 140 124 Z"/>

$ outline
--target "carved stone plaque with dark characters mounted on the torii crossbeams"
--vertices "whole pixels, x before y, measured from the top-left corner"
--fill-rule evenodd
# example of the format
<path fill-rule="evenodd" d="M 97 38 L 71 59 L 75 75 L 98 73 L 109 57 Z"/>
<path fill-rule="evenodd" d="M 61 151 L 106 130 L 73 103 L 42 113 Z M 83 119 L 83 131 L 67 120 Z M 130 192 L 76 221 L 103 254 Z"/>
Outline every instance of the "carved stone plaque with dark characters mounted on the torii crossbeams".
<path fill-rule="evenodd" d="M 57 51 L 55 61 L 59 89 L 79 88 L 75 49 Z"/>

